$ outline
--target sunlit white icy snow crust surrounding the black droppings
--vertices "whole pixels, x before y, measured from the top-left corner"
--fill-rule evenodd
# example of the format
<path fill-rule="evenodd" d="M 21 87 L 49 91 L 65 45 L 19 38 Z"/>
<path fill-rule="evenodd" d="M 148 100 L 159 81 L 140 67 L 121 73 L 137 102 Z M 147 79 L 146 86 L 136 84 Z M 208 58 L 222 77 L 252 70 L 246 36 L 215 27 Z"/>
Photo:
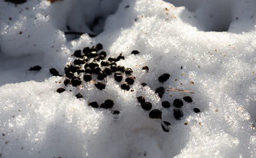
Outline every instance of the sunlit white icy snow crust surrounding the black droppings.
<path fill-rule="evenodd" d="M 256 157 L 256 2 L 183 2 L 177 5 L 191 11 L 156 0 L 122 1 L 116 12 L 119 1 L 31 0 L 17 6 L 1 1 L 0 157 Z M 224 13 L 215 6 L 230 12 L 227 32 L 207 26 L 226 22 L 206 18 L 209 10 Z M 95 38 L 84 34 L 68 41 L 63 33 L 67 24 L 92 33 L 88 22 L 111 12 Z M 98 42 L 108 56 L 123 53 L 118 65 L 134 70 L 134 91 L 121 90 L 108 77 L 103 91 L 88 83 L 56 93 L 63 80 L 51 77 L 49 68 L 63 74 L 72 52 Z M 35 65 L 42 70 L 29 72 Z M 146 65 L 148 73 L 141 70 Z M 158 83 L 163 73 L 171 77 Z M 143 82 L 148 86 L 141 87 Z M 195 92 L 181 120 L 173 118 L 173 106 L 161 107 L 154 93 L 158 86 Z M 78 92 L 84 99 L 74 97 Z M 170 132 L 148 118 L 136 100 L 140 95 L 163 110 Z M 162 100 L 185 95 L 166 92 Z M 106 99 L 114 100 L 118 118 L 88 106 Z"/>

